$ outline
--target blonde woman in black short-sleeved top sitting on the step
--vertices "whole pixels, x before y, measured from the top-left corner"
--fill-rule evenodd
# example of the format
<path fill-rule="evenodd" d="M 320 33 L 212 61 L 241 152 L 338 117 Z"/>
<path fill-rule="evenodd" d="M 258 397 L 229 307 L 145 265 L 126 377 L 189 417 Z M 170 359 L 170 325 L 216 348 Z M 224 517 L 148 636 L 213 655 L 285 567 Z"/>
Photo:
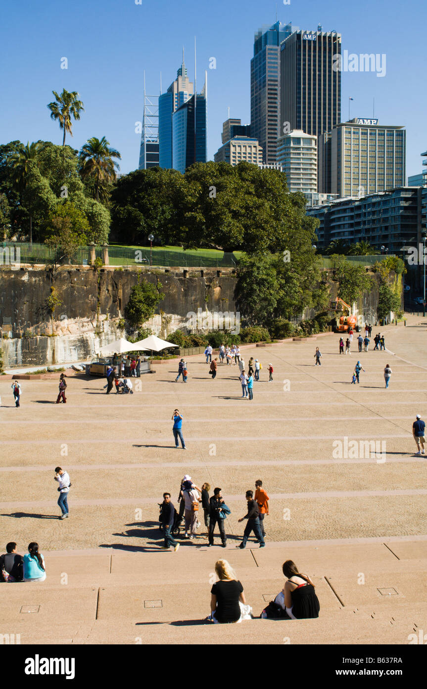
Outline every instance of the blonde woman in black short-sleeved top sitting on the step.
<path fill-rule="evenodd" d="M 239 601 L 245 605 L 243 586 L 236 580 L 234 571 L 227 560 L 218 560 L 215 572 L 219 582 L 210 590 L 210 610 L 212 619 L 220 624 L 238 622 L 241 618 Z"/>

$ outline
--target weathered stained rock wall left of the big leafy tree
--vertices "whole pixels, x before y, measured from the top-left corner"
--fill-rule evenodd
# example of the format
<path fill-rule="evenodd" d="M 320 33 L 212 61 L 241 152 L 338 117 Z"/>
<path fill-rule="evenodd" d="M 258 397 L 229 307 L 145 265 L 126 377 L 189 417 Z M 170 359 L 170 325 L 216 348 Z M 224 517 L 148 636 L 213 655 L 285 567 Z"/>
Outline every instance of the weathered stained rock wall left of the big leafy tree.
<path fill-rule="evenodd" d="M 146 323 L 161 337 L 185 326 L 198 309 L 206 316 L 236 310 L 236 276 L 231 269 L 2 269 L 4 366 L 91 358 L 100 347 L 124 335 L 119 321 L 132 287 L 142 276 L 153 284 L 160 282 L 165 294 L 156 315 Z"/>

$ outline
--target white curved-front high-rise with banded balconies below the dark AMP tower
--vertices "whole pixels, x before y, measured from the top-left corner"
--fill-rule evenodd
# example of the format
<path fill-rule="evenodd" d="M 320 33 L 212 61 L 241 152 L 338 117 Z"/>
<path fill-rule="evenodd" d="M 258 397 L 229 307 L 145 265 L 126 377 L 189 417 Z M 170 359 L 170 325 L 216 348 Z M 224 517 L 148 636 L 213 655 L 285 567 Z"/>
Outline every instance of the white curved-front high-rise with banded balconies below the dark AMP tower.
<path fill-rule="evenodd" d="M 277 141 L 277 162 L 289 192 L 317 192 L 317 137 L 294 130 Z"/>

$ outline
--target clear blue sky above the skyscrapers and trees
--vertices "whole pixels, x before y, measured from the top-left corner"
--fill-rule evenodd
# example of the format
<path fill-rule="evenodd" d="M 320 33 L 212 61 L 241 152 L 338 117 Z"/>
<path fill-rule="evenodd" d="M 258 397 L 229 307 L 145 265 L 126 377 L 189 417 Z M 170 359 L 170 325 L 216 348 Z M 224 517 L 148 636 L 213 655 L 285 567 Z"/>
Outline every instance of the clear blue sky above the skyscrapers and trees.
<path fill-rule="evenodd" d="M 139 0 L 138 0 L 139 1 Z M 74 136 L 106 136 L 122 154 L 121 171 L 138 167 L 143 72 L 146 90 L 158 94 L 175 79 L 186 49 L 194 76 L 197 37 L 197 90 L 208 70 L 208 158 L 221 145 L 222 122 L 230 116 L 250 122 L 250 59 L 254 32 L 280 21 L 303 29 L 336 30 L 342 49 L 386 54 L 386 76 L 342 74 L 342 120 L 375 117 L 381 124 L 405 125 L 406 174 L 421 172 L 427 150 L 425 27 L 427 3 L 419 0 L 3 0 L 0 52 L 0 142 L 45 139 L 62 143 L 47 103 L 52 90 L 78 91 L 85 105 Z M 67 57 L 68 69 L 61 70 Z M 209 69 L 215 57 L 217 68 Z"/>

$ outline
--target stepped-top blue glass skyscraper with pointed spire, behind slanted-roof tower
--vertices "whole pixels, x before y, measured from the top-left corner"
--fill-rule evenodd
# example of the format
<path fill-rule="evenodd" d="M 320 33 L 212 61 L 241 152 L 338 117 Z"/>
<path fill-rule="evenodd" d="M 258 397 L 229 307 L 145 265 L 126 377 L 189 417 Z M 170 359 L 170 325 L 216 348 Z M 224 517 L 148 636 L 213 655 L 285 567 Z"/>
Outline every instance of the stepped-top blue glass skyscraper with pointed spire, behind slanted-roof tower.
<path fill-rule="evenodd" d="M 173 167 L 172 160 L 172 115 L 194 94 L 194 83 L 188 81 L 187 69 L 182 51 L 182 65 L 177 70 L 177 78 L 166 93 L 159 97 L 159 165 Z"/>

